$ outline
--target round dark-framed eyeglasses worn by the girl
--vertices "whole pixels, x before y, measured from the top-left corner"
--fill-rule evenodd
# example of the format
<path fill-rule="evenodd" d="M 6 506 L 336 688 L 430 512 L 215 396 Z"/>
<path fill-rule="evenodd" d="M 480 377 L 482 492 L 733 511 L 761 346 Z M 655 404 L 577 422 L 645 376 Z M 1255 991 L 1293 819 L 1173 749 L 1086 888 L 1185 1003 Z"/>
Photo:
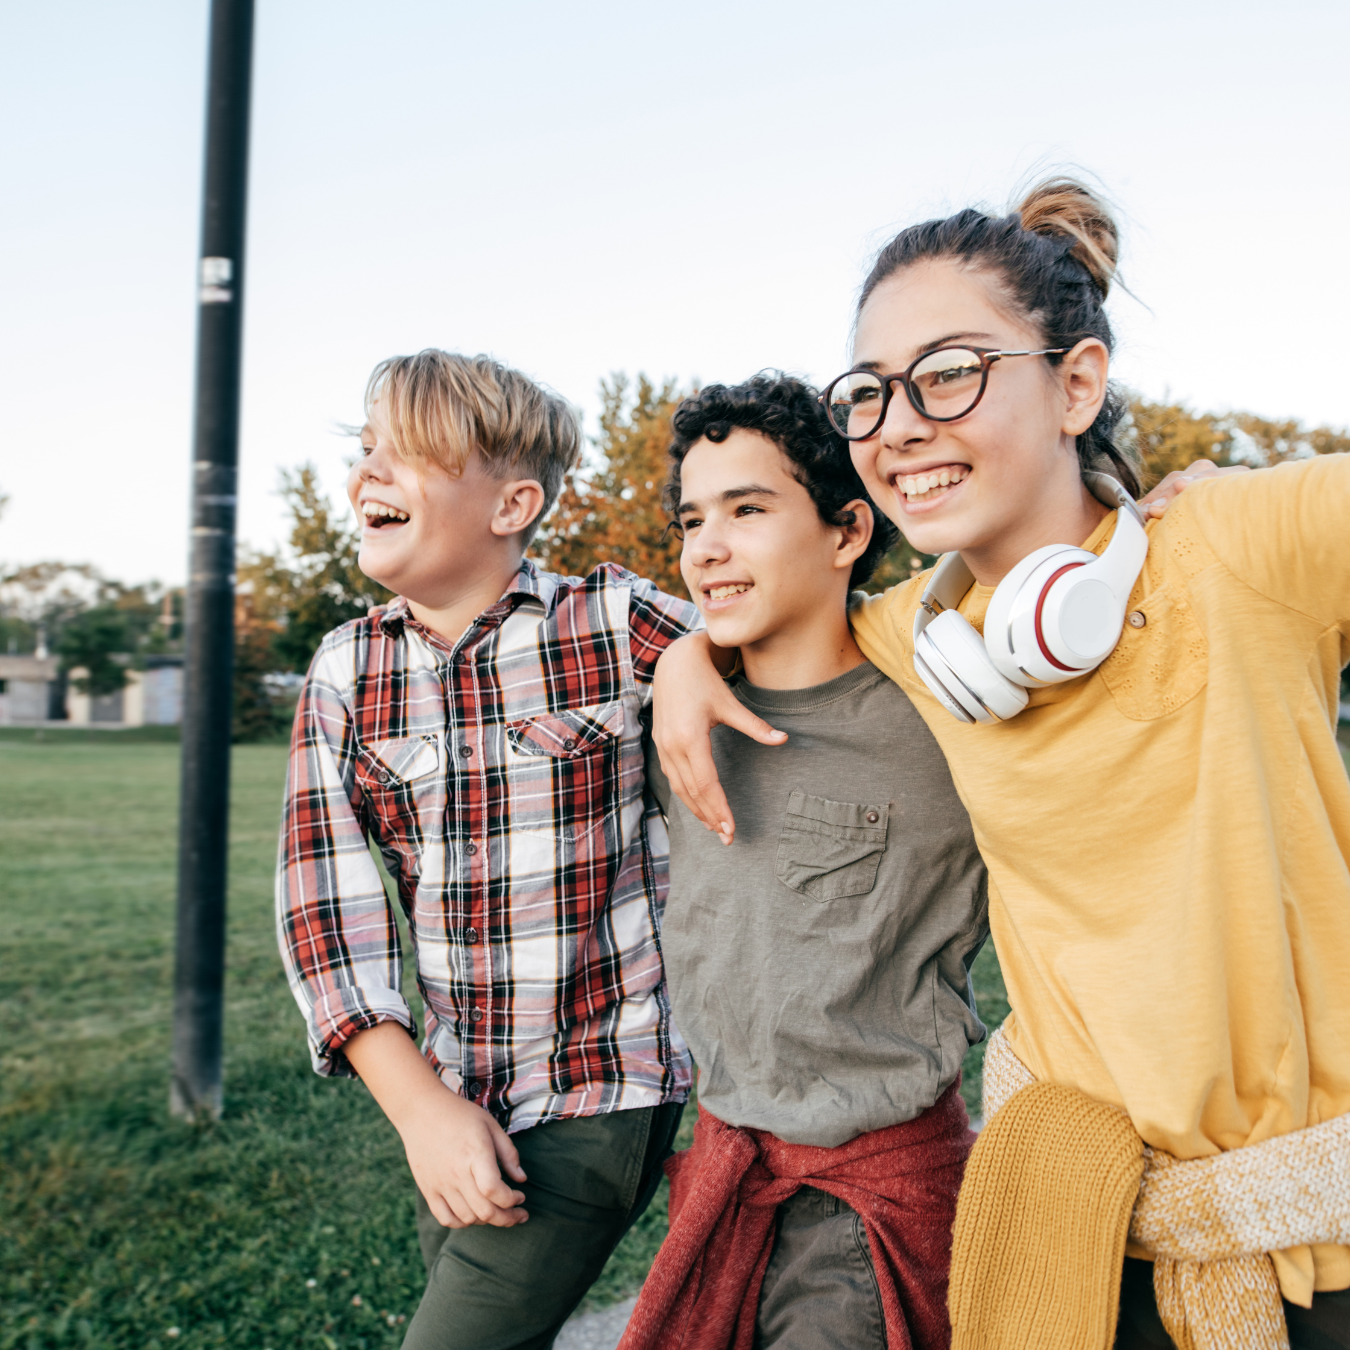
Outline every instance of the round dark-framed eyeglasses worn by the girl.
<path fill-rule="evenodd" d="M 925 352 L 909 370 L 879 375 L 875 370 L 850 370 L 830 382 L 821 402 L 830 423 L 845 440 L 867 440 L 886 421 L 895 382 L 914 410 L 929 421 L 956 421 L 984 397 L 990 367 L 1004 356 L 1058 356 L 1068 347 L 1045 351 L 988 351 L 984 347 L 940 347 Z"/>

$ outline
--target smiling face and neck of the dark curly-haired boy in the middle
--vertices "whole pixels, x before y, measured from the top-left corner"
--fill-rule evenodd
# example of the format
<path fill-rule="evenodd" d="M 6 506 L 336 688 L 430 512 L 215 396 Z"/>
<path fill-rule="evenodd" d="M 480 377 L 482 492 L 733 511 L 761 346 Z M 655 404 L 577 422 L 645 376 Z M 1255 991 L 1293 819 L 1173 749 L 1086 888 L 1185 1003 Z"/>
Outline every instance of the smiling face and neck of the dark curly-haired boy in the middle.
<path fill-rule="evenodd" d="M 846 637 L 853 562 L 871 537 L 826 525 L 788 460 L 767 436 L 736 428 L 697 441 L 680 464 L 680 572 L 720 647 L 738 647 L 753 683 L 819 683 L 815 656 Z M 850 645 L 850 644 L 849 644 Z"/>

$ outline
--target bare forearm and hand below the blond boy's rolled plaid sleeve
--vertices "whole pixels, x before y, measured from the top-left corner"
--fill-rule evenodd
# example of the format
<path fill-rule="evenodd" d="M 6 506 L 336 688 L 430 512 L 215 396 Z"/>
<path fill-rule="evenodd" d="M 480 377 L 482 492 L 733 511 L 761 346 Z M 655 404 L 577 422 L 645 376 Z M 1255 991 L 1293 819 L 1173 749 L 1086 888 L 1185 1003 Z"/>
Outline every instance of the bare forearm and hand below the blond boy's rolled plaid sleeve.
<path fill-rule="evenodd" d="M 481 1106 L 440 1081 L 402 1026 L 379 1022 L 358 1031 L 343 1053 L 402 1138 L 437 1223 L 510 1228 L 529 1218 L 525 1196 L 502 1179 L 525 1180 L 516 1145 Z"/>

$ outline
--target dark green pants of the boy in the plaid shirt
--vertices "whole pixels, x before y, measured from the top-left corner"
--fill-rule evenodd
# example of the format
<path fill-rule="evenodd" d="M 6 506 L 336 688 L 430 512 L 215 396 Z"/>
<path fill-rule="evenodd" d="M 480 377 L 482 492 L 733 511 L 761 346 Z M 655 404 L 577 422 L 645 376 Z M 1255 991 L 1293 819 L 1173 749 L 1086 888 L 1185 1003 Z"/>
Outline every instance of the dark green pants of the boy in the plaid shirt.
<path fill-rule="evenodd" d="M 443 1228 L 417 1196 L 427 1292 L 404 1350 L 547 1350 L 649 1204 L 683 1106 L 552 1120 L 512 1135 L 529 1222 Z"/>

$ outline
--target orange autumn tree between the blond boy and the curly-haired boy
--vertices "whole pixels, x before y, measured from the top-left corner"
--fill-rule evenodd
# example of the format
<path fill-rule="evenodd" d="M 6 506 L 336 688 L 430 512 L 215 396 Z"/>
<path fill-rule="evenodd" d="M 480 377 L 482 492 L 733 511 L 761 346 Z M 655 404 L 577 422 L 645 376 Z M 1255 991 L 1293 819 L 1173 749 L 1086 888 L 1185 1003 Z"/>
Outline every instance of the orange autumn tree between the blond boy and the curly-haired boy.
<path fill-rule="evenodd" d="M 683 595 L 679 541 L 666 536 L 662 487 L 671 413 L 684 394 L 674 381 L 656 386 L 641 374 L 632 396 L 621 374 L 602 381 L 599 394 L 591 462 L 563 487 L 533 552 L 549 571 L 585 576 L 598 563 L 618 563 Z"/>

